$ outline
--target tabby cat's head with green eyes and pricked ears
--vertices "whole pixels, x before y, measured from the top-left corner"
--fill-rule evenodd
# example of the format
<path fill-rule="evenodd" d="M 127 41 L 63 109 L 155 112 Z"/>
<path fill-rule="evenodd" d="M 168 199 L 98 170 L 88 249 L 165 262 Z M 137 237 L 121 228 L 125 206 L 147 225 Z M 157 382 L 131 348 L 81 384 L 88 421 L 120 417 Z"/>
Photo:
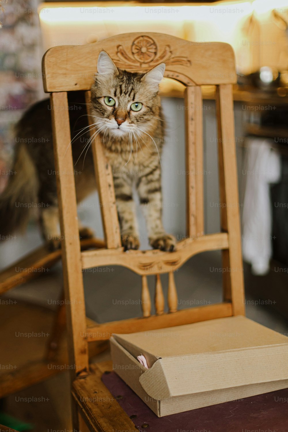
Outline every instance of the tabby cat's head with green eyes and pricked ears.
<path fill-rule="evenodd" d="M 165 64 L 146 74 L 118 70 L 105 51 L 98 57 L 98 73 L 91 89 L 93 123 L 110 137 L 128 138 L 151 128 L 158 117 L 158 86 Z"/>

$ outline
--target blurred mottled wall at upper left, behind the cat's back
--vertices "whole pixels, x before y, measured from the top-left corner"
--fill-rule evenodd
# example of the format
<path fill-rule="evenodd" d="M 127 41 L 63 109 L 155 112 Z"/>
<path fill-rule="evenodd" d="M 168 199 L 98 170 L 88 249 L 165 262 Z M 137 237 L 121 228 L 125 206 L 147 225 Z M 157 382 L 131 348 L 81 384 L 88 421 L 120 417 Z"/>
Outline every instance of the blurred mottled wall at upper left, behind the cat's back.
<path fill-rule="evenodd" d="M 5 187 L 15 137 L 13 126 L 43 93 L 37 0 L 3 4 L 0 29 L 0 191 Z"/>

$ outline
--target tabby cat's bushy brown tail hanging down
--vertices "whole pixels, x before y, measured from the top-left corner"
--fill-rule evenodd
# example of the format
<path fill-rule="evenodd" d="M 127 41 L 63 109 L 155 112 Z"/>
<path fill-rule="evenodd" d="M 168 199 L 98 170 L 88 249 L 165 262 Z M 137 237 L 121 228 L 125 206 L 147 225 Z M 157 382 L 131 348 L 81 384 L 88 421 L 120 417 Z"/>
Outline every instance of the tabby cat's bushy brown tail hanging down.
<path fill-rule="evenodd" d="M 16 149 L 8 184 L 0 195 L 0 240 L 24 231 L 31 210 L 37 206 L 38 181 L 25 144 Z"/>

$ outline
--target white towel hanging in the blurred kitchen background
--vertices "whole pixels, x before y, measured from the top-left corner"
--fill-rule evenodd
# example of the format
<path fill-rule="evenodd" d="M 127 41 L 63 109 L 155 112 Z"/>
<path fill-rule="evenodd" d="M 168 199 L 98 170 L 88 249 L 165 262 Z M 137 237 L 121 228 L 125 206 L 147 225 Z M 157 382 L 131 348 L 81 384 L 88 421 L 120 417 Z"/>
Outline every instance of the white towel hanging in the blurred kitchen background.
<path fill-rule="evenodd" d="M 243 258 L 252 265 L 252 273 L 269 271 L 272 256 L 272 208 L 269 184 L 277 183 L 281 175 L 279 153 L 272 149 L 271 140 L 247 139 L 244 206 L 242 215 Z"/>

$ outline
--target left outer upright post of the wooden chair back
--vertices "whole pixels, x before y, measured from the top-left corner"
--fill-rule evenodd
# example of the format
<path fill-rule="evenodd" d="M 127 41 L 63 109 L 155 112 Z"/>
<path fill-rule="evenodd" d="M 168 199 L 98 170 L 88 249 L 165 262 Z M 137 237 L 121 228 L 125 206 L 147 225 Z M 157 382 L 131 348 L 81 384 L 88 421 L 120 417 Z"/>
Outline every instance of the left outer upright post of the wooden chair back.
<path fill-rule="evenodd" d="M 67 330 L 70 337 L 71 374 L 88 371 L 88 349 L 84 338 L 85 300 L 78 231 L 76 190 L 67 93 L 52 93 L 51 115 L 54 159 L 57 174 Z M 77 330 L 76 330 L 77 329 Z"/>

